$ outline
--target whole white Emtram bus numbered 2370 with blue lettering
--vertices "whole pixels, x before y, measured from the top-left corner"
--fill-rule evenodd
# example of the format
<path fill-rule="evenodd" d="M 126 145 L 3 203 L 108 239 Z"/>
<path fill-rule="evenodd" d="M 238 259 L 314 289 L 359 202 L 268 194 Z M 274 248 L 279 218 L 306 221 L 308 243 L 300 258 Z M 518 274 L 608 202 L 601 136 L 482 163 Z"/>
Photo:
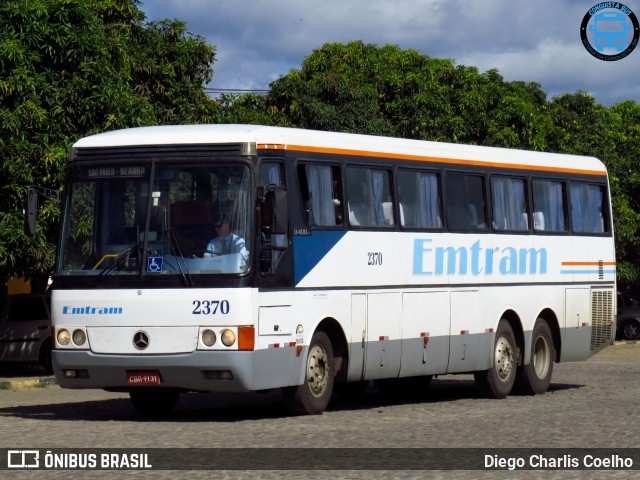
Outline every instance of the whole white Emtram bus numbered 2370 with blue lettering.
<path fill-rule="evenodd" d="M 370 380 L 423 390 L 455 373 L 490 397 L 539 394 L 554 362 L 614 338 L 595 158 L 147 127 L 78 141 L 64 192 L 57 380 L 129 392 L 143 413 L 274 388 L 320 413 Z"/>

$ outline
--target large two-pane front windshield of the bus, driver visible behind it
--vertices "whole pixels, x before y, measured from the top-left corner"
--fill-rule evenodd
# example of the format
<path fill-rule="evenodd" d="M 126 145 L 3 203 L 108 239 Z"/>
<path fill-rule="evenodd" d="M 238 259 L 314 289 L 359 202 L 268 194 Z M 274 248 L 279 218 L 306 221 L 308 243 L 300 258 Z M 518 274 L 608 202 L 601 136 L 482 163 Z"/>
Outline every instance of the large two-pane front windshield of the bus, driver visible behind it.
<path fill-rule="evenodd" d="M 72 168 L 57 274 L 243 273 L 249 186 L 218 161 Z"/>

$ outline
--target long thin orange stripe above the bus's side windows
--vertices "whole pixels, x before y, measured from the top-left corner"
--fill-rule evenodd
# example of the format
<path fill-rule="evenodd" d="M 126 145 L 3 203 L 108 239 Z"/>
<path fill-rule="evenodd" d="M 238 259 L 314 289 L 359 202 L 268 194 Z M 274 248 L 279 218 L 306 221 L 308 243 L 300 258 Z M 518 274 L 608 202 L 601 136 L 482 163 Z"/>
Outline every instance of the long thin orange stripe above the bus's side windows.
<path fill-rule="evenodd" d="M 598 170 L 584 170 L 580 168 L 560 168 L 551 166 L 540 165 L 521 165 L 517 163 L 500 163 L 491 162 L 488 160 L 464 160 L 460 158 L 444 158 L 444 157 L 429 157 L 423 155 L 409 155 L 403 153 L 391 153 L 391 152 L 371 152 L 367 150 L 350 150 L 343 148 L 327 148 L 327 147 L 309 147 L 304 145 L 285 145 L 285 144 L 258 144 L 259 150 L 294 150 L 308 153 L 329 153 L 334 155 L 354 155 L 361 157 L 383 157 L 393 158 L 396 160 L 415 160 L 418 162 L 432 162 L 432 163 L 447 163 L 452 165 L 471 165 L 481 167 L 497 167 L 497 168 L 511 168 L 516 170 L 534 170 L 544 172 L 562 172 L 562 173 L 576 173 L 582 175 L 601 175 L 606 176 L 607 172 Z"/>

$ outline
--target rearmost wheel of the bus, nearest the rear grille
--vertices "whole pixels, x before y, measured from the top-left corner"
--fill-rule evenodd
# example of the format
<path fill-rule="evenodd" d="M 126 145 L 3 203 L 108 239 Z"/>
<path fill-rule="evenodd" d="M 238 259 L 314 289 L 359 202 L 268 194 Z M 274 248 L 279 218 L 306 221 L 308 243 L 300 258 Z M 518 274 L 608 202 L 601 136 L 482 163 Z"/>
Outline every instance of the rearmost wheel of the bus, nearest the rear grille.
<path fill-rule="evenodd" d="M 553 336 L 546 321 L 539 318 L 531 335 L 531 358 L 528 365 L 518 367 L 516 390 L 527 395 L 537 395 L 547 391 L 553 374 L 556 352 Z"/>

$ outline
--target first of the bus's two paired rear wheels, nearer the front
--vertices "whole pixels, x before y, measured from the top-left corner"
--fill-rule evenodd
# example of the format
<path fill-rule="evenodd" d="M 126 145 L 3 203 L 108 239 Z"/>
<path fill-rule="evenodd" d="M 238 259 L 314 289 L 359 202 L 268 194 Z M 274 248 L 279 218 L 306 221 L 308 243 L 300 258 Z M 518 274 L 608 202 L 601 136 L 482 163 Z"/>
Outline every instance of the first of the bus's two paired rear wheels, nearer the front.
<path fill-rule="evenodd" d="M 516 379 L 516 337 L 504 318 L 498 323 L 493 344 L 493 365 L 488 370 L 475 373 L 480 393 L 491 398 L 505 398 L 513 389 Z"/>

